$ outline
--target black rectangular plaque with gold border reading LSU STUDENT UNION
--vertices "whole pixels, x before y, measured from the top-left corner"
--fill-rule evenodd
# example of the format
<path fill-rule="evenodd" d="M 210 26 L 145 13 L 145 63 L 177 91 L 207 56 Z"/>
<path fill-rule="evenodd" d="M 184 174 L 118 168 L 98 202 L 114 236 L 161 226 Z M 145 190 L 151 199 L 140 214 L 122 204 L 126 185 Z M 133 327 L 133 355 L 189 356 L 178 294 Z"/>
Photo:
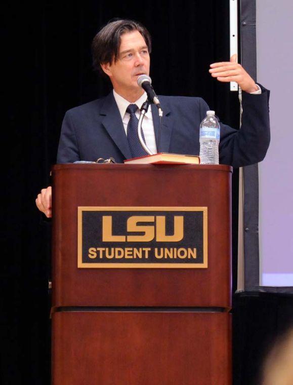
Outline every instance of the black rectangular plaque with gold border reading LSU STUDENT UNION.
<path fill-rule="evenodd" d="M 79 268 L 207 268 L 207 207 L 78 207 Z"/>

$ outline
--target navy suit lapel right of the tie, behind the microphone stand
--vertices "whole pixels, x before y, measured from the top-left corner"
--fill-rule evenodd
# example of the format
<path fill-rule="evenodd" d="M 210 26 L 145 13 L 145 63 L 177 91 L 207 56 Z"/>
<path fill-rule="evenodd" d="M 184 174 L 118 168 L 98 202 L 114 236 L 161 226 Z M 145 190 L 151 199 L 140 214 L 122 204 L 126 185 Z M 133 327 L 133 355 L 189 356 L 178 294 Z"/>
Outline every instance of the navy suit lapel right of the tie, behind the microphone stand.
<path fill-rule="evenodd" d="M 160 138 L 160 152 L 169 152 L 170 148 L 170 140 L 171 140 L 171 134 L 173 129 L 173 122 L 171 120 L 171 113 L 170 108 L 164 103 L 161 103 L 162 109 L 163 109 L 163 116 L 161 121 L 161 138 Z M 154 130 L 155 130 L 155 138 L 156 138 L 156 145 L 158 148 L 158 140 L 159 140 L 159 115 L 158 115 L 158 109 L 157 107 L 152 104 L 152 115 L 153 115 L 153 124 L 154 124 Z"/>

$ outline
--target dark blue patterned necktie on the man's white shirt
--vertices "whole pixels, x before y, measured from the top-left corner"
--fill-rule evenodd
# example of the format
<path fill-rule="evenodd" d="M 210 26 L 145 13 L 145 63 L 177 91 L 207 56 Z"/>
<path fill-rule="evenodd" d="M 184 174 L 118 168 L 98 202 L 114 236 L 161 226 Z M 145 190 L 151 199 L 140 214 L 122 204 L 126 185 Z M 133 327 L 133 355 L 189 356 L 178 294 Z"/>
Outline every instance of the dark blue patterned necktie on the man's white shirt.
<path fill-rule="evenodd" d="M 138 119 L 136 117 L 135 111 L 138 109 L 136 104 L 130 104 L 127 107 L 126 112 L 130 114 L 130 120 L 127 126 L 127 140 L 130 146 L 131 154 L 133 158 L 143 157 L 148 155 L 143 146 L 140 143 L 138 137 Z M 145 142 L 144 134 L 142 132 L 142 138 Z"/>

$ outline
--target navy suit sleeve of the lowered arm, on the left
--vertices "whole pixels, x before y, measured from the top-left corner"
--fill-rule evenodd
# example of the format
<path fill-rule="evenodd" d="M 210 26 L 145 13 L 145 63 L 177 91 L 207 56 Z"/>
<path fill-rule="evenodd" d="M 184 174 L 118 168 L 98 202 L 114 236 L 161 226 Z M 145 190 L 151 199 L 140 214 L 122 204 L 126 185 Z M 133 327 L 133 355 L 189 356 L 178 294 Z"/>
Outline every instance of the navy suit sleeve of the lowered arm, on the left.
<path fill-rule="evenodd" d="M 78 142 L 70 112 L 65 113 L 57 152 L 57 163 L 80 161 Z"/>

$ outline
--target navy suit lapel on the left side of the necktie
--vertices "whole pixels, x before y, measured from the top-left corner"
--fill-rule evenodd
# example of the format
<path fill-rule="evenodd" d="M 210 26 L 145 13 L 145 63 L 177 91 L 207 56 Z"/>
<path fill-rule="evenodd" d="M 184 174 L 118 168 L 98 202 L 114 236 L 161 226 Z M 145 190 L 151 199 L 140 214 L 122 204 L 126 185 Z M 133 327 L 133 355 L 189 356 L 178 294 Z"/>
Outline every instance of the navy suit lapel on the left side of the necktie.
<path fill-rule="evenodd" d="M 105 98 L 105 103 L 101 108 L 100 114 L 103 115 L 102 125 L 105 127 L 124 157 L 126 159 L 132 158 L 121 115 L 115 102 L 113 92 L 110 92 Z"/>

